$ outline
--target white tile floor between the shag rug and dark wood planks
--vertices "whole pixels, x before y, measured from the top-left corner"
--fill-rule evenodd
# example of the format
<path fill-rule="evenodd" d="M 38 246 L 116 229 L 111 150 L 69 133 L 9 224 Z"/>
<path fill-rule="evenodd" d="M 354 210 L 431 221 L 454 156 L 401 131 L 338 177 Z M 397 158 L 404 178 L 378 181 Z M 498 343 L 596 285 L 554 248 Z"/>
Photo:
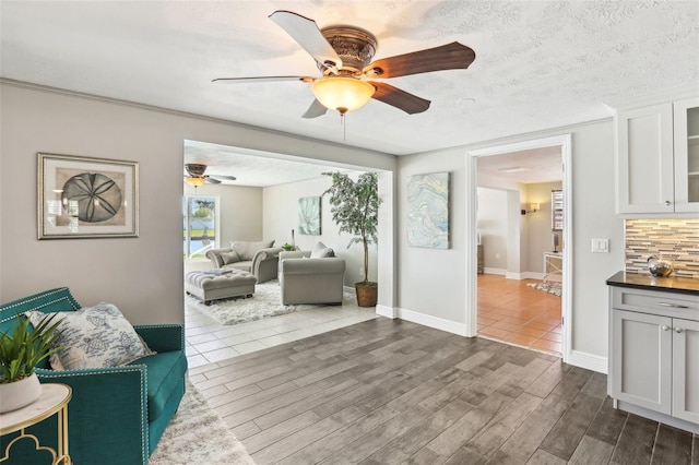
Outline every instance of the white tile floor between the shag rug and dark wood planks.
<path fill-rule="evenodd" d="M 223 325 L 200 310 L 185 306 L 189 368 L 303 339 L 376 318 L 356 303 L 319 307 L 264 320 Z"/>

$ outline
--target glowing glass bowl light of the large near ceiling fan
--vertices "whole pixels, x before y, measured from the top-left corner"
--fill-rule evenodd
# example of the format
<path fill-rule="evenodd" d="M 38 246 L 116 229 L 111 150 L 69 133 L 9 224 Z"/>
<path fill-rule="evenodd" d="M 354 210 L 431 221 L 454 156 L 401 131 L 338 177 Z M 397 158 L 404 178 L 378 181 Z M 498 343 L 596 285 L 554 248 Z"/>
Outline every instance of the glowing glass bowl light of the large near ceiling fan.
<path fill-rule="evenodd" d="M 313 82 L 311 91 L 325 108 L 344 114 L 365 106 L 376 87 L 355 78 L 329 76 Z"/>

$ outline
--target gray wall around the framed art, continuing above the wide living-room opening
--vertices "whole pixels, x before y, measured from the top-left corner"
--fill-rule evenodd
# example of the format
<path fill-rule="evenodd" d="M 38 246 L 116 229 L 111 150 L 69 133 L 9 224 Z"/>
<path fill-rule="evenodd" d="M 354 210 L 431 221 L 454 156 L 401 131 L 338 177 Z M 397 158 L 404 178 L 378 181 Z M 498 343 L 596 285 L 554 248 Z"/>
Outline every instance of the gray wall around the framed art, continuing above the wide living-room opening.
<path fill-rule="evenodd" d="M 133 323 L 182 321 L 186 139 L 386 170 L 395 166 L 395 157 L 376 152 L 138 105 L 0 85 L 0 301 L 69 286 L 82 305 L 114 302 Z M 140 237 L 37 240 L 37 152 L 139 162 Z M 391 242 L 390 237 L 384 241 Z M 386 303 L 392 305 L 390 295 Z"/>

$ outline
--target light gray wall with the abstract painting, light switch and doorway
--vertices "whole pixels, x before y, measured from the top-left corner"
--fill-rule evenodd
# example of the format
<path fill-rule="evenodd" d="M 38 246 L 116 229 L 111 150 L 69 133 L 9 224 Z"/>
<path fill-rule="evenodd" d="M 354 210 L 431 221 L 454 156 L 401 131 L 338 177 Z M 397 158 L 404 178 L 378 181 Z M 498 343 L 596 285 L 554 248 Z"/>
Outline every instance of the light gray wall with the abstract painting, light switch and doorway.
<path fill-rule="evenodd" d="M 624 266 L 624 224 L 614 212 L 614 123 L 605 120 L 536 134 L 518 135 L 473 146 L 399 158 L 398 249 L 401 270 L 398 306 L 414 321 L 463 329 L 465 162 L 469 150 L 572 134 L 572 341 L 578 360 L 603 366 L 607 355 L 607 286 L 605 279 Z M 408 247 L 405 239 L 405 186 L 412 175 L 440 170 L 452 174 L 451 238 L 449 250 Z M 593 237 L 609 238 L 609 253 L 592 253 Z M 569 246 L 569 245 L 567 245 Z M 583 361 L 584 362 L 584 361 Z"/>

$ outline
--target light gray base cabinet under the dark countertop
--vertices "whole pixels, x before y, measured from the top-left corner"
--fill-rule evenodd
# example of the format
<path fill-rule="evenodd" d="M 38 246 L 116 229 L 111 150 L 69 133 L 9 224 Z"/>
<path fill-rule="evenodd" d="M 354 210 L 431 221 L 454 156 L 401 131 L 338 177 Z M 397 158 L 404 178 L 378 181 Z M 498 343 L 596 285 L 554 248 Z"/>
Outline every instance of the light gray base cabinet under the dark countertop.
<path fill-rule="evenodd" d="M 699 298 L 613 287 L 608 394 L 619 408 L 699 431 Z"/>

